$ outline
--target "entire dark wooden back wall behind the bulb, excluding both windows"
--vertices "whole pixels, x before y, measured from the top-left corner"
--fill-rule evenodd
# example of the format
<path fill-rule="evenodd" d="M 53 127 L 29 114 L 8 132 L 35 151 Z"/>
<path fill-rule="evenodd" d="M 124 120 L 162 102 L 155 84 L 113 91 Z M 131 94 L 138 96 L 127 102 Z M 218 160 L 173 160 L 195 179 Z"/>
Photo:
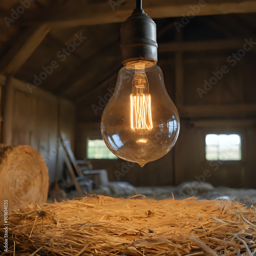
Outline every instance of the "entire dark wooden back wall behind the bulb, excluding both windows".
<path fill-rule="evenodd" d="M 146 164 L 135 165 L 125 173 L 127 162 L 122 160 L 92 160 L 94 168 L 108 170 L 110 180 L 122 180 L 133 185 L 174 185 L 184 181 L 202 181 L 215 186 L 255 187 L 254 172 L 256 97 L 253 92 L 253 54 L 247 54 L 234 67 L 227 57 L 237 52 L 218 50 L 165 54 L 159 57 L 166 89 L 180 113 L 181 130 L 173 150 L 165 157 Z M 180 60 L 179 60 L 180 58 Z M 178 59 L 178 62 L 177 62 Z M 204 80 L 213 71 L 228 66 L 215 86 L 200 97 Z M 96 88 L 78 101 L 76 126 L 76 154 L 84 159 L 87 140 L 101 138 L 100 117 L 108 92 L 115 87 L 115 79 Z M 108 96 L 106 96 L 108 95 Z M 205 135 L 211 133 L 238 133 L 242 140 L 242 160 L 210 162 L 205 159 Z M 125 164 L 125 165 L 124 165 Z M 124 171 L 123 171 L 124 170 Z M 153 178 L 154 177 L 154 178 Z"/>

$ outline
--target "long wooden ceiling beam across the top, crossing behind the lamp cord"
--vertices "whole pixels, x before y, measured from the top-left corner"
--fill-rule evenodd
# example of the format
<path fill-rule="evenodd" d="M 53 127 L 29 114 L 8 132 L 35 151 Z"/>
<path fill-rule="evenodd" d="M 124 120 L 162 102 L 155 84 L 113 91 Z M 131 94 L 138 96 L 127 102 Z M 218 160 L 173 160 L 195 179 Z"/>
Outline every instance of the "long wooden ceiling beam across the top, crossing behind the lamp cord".
<path fill-rule="evenodd" d="M 143 8 L 152 18 L 216 15 L 228 13 L 252 13 L 256 12 L 256 1 L 253 0 L 216 0 L 214 2 L 197 0 L 185 1 L 144 1 Z M 45 17 L 34 17 L 26 20 L 26 23 L 47 23 L 51 27 L 76 27 L 83 25 L 121 23 L 129 17 L 135 8 L 134 0 L 126 0 L 124 3 L 116 2 L 113 10 L 111 2 L 100 4 L 88 4 L 86 1 L 72 1 L 59 6 L 58 11 L 52 11 Z M 198 10 L 198 11 L 195 11 Z"/>

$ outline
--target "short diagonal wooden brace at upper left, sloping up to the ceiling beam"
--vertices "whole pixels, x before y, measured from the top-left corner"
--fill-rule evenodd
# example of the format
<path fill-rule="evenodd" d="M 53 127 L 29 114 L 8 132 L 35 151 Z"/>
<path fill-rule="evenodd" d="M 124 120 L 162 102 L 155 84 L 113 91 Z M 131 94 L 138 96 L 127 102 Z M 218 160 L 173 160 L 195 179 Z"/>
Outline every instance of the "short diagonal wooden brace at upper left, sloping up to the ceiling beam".
<path fill-rule="evenodd" d="M 38 25 L 23 33 L 2 59 L 0 63 L 2 73 L 14 75 L 45 39 L 50 30 L 47 25 Z"/>

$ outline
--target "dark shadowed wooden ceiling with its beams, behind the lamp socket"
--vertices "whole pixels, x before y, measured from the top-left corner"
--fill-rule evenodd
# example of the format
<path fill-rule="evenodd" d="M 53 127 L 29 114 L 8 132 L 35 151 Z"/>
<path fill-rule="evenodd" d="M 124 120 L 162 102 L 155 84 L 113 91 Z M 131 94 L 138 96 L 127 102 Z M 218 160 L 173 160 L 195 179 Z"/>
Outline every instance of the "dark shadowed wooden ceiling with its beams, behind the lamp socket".
<path fill-rule="evenodd" d="M 203 3 L 203 2 L 202 2 Z M 3 0 L 0 71 L 74 102 L 116 80 L 120 24 L 135 1 Z M 232 50 L 256 31 L 255 1 L 144 1 L 157 24 L 159 59 Z M 227 14 L 227 15 L 223 15 Z M 192 15 L 182 19 L 182 16 Z M 197 17 L 193 17 L 197 15 Z"/>

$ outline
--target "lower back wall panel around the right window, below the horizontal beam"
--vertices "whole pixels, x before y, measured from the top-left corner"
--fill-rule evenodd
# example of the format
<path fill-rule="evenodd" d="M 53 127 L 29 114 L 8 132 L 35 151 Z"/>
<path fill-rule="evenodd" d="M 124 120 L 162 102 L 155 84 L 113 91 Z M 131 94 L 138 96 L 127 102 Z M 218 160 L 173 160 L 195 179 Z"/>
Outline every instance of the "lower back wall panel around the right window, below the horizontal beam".
<path fill-rule="evenodd" d="M 175 148 L 176 169 L 179 170 L 175 173 L 176 182 L 205 181 L 214 186 L 255 188 L 252 179 L 255 172 L 255 120 L 247 119 L 245 123 L 243 125 L 242 122 L 232 120 L 223 123 L 218 119 L 204 122 L 200 120 L 200 123 L 196 120 L 182 120 L 181 134 Z M 207 161 L 205 135 L 212 133 L 239 134 L 242 141 L 242 160 Z"/>

